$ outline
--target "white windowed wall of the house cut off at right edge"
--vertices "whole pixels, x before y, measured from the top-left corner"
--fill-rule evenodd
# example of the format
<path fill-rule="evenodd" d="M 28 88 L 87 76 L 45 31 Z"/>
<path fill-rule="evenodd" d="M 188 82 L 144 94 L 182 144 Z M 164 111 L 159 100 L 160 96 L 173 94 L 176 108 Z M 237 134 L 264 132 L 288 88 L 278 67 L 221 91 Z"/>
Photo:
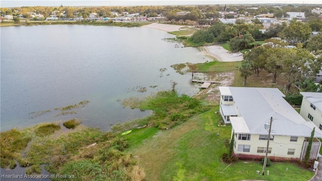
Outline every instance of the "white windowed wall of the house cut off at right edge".
<path fill-rule="evenodd" d="M 318 109 L 313 110 L 310 107 L 311 103 L 306 100 L 305 97 L 303 97 L 302 105 L 301 105 L 301 111 L 300 115 L 306 120 L 311 121 L 307 118 L 307 115 L 310 114 L 313 117 L 313 123 L 319 127 L 319 125 L 322 125 L 322 112 Z"/>

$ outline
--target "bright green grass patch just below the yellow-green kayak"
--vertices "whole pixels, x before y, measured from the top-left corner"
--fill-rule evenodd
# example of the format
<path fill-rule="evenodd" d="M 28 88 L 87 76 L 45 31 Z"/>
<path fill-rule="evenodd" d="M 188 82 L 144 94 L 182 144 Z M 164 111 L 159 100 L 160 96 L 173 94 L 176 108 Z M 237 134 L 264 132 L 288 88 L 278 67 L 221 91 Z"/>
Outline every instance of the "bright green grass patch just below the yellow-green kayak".
<path fill-rule="evenodd" d="M 135 148 L 137 145 L 140 145 L 143 140 L 152 137 L 159 131 L 156 127 L 150 128 L 140 128 L 140 129 L 132 129 L 129 134 L 122 135 L 130 144 L 130 148 Z"/>

